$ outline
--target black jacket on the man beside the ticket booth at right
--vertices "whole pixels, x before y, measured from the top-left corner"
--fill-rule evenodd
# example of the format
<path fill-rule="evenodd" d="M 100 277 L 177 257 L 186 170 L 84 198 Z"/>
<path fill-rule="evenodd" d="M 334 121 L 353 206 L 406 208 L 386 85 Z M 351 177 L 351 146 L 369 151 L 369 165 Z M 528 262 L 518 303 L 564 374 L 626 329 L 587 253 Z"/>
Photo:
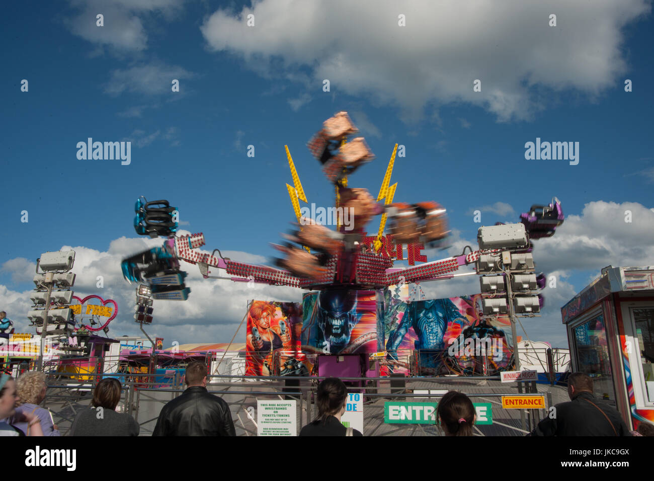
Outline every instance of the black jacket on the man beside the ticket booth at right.
<path fill-rule="evenodd" d="M 631 435 L 620 413 L 603 401 L 595 399 L 594 395 L 587 391 L 581 391 L 572 397 L 572 401 L 561 402 L 555 408 L 552 413 L 554 417 L 547 416 L 540 421 L 532 431 L 532 436 L 615 436 L 616 433 L 618 436 Z"/>

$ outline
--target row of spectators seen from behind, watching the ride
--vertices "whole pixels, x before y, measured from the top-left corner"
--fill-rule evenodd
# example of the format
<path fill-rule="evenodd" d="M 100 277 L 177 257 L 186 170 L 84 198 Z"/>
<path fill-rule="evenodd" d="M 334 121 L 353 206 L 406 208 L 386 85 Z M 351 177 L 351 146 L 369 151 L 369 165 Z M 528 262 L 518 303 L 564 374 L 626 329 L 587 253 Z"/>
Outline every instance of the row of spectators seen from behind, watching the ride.
<path fill-rule="evenodd" d="M 158 416 L 153 436 L 235 436 L 228 404 L 207 391 L 207 366 L 191 361 L 184 375 L 186 389 L 167 402 Z M 0 374 L 0 436 L 60 436 L 52 414 L 41 407 L 46 397 L 46 376 L 29 371 L 14 380 Z M 77 413 L 71 436 L 138 436 L 135 419 L 116 412 L 122 386 L 115 378 L 104 378 L 95 386 L 88 408 Z M 300 436 L 362 436 L 346 427 L 341 416 L 347 406 L 347 387 L 338 378 L 318 384 L 315 403 L 318 415 L 302 427 Z M 554 406 L 555 416 L 547 416 L 531 436 L 653 436 L 654 425 L 640 423 L 629 431 L 615 408 L 593 395 L 593 380 L 576 372 L 568 378 L 570 401 Z M 473 436 L 477 421 L 470 398 L 449 391 L 439 400 L 434 418 L 445 436 Z"/>

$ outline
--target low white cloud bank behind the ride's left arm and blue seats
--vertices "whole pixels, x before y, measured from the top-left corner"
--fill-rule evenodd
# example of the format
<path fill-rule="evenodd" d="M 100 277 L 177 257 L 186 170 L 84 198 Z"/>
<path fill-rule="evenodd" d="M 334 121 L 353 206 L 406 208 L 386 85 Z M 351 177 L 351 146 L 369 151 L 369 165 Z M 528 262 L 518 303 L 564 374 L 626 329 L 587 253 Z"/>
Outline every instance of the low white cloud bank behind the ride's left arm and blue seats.
<path fill-rule="evenodd" d="M 181 230 L 180 234 L 188 234 Z M 84 298 L 89 294 L 97 294 L 104 299 L 114 299 L 118 304 L 118 315 L 109 325 L 109 336 L 122 334 L 141 334 L 139 326 L 133 319 L 135 302 L 135 285 L 130 285 L 122 277 L 120 262 L 123 258 L 144 251 L 151 247 L 162 245 L 160 239 L 149 238 L 118 238 L 113 240 L 107 251 L 97 251 L 82 246 L 64 245 L 61 249 L 75 250 L 75 265 L 73 271 L 77 274 L 73 291 L 75 295 Z M 217 254 L 217 253 L 216 253 Z M 224 257 L 241 262 L 263 264 L 265 257 L 239 251 L 222 251 Z M 146 327 L 150 336 L 163 336 L 169 346 L 173 340 L 180 344 L 185 342 L 228 342 L 237 329 L 248 300 L 281 300 L 301 302 L 300 289 L 292 287 L 275 287 L 247 283 L 233 283 L 224 279 L 204 279 L 198 266 L 181 262 L 182 270 L 188 272 L 186 285 L 191 288 L 188 300 L 154 301 L 154 321 Z M 10 259 L 3 264 L 10 272 L 22 272 L 26 266 L 24 259 Z M 34 266 L 31 266 L 33 272 Z M 228 276 L 219 271 L 220 276 Z M 103 276 L 103 288 L 97 287 L 97 276 Z M 29 277 L 29 280 L 33 275 Z M 18 279 L 24 280 L 24 279 Z M 7 312 L 7 317 L 14 321 L 16 332 L 34 332 L 29 327 L 26 315 L 31 308 L 29 294 L 32 291 L 12 291 L 5 285 L 0 285 L 0 310 Z M 235 342 L 244 342 L 245 329 L 241 327 Z"/>

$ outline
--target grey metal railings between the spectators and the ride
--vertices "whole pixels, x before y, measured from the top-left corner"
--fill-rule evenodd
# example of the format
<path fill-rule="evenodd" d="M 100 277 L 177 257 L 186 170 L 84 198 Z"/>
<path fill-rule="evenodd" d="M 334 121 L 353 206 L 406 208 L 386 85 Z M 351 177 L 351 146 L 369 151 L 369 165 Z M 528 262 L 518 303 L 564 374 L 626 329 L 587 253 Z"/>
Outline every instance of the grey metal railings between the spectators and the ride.
<path fill-rule="evenodd" d="M 53 373 L 48 380 L 48 393 L 44 407 L 50 409 L 62 435 L 69 435 L 70 428 L 81 409 L 88 408 L 92 389 L 97 376 L 107 374 L 85 374 L 87 380 L 75 380 Z M 156 382 L 154 375 L 135 376 L 131 373 L 113 373 L 122 383 L 122 399 L 117 408 L 133 416 L 139 423 L 142 436 L 152 434 L 159 412 L 166 402 L 180 395 L 184 386 L 181 377 L 175 375 L 170 383 Z M 318 378 L 307 377 L 249 377 L 207 376 L 207 390 L 222 397 L 230 406 L 232 419 L 239 436 L 256 436 L 257 401 L 291 399 L 297 402 L 297 426 L 309 423 L 317 416 L 315 406 Z M 546 408 L 564 401 L 564 388 L 549 385 L 526 385 L 525 389 L 516 383 L 500 383 L 489 376 L 445 377 L 445 378 L 342 378 L 346 383 L 359 383 L 349 389 L 358 392 L 364 402 L 364 435 L 441 435 L 436 425 L 387 424 L 384 420 L 384 405 L 387 401 L 438 402 L 449 390 L 461 391 L 473 402 L 492 404 L 492 425 L 475 425 L 475 435 L 480 436 L 523 436 L 534 429 L 539 419 L 547 416 L 545 410 L 505 410 L 501 397 L 506 395 L 541 394 L 545 396 Z M 536 387 L 538 386 L 538 387 Z"/>

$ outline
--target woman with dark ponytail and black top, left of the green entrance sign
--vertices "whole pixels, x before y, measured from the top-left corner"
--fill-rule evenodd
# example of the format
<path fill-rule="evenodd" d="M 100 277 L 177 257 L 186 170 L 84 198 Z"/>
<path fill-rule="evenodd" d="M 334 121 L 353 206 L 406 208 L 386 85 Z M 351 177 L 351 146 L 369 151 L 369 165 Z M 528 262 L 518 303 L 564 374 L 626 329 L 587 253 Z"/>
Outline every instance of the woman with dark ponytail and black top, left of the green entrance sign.
<path fill-rule="evenodd" d="M 300 436 L 363 436 L 360 431 L 341 424 L 347 404 L 347 387 L 339 378 L 326 378 L 318 384 L 318 416 L 300 431 Z"/>

